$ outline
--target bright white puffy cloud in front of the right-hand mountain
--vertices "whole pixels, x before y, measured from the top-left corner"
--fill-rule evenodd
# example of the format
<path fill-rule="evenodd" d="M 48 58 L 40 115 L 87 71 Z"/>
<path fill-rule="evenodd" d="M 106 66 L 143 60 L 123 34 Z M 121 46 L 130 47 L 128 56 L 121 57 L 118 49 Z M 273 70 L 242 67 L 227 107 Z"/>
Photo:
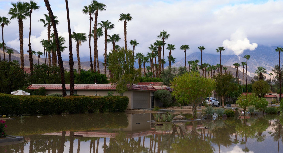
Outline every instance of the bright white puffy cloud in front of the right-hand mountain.
<path fill-rule="evenodd" d="M 223 41 L 223 47 L 225 49 L 232 50 L 235 55 L 240 55 L 246 49 L 256 49 L 258 47 L 258 44 L 250 44 L 250 40 L 248 40 L 244 32 L 238 29 L 235 33 L 231 35 L 230 40 L 226 39 Z"/>

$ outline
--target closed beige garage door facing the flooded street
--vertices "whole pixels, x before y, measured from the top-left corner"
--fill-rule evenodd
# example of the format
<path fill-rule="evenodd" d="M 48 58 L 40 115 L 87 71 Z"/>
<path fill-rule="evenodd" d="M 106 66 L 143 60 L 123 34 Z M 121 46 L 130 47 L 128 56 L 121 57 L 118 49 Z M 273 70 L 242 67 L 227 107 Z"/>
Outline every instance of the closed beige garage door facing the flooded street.
<path fill-rule="evenodd" d="M 149 108 L 149 93 L 133 91 L 133 108 Z"/>

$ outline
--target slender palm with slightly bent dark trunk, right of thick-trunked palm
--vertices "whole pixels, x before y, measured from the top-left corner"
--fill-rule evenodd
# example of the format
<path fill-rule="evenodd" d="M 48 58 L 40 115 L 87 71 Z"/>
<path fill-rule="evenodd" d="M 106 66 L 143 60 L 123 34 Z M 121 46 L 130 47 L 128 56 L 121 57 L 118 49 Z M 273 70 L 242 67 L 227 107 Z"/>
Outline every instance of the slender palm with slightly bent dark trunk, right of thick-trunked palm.
<path fill-rule="evenodd" d="M 29 53 L 29 68 L 31 70 L 31 75 L 33 75 L 33 61 L 32 61 L 32 55 L 31 55 L 31 13 L 33 12 L 33 10 L 38 10 L 38 9 L 39 9 L 39 6 L 37 6 L 37 3 L 34 1 L 30 1 L 30 4 L 29 4 L 29 50 L 27 52 Z"/>

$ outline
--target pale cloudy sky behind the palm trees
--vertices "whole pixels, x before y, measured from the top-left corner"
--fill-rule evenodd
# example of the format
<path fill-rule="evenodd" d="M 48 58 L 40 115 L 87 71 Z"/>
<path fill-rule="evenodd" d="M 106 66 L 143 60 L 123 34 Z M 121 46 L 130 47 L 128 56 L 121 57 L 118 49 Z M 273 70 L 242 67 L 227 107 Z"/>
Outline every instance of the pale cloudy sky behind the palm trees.
<path fill-rule="evenodd" d="M 26 1 L 26 0 L 24 0 Z M 34 0 L 40 6 L 32 14 L 31 47 L 33 50 L 43 51 L 41 39 L 47 39 L 47 28 L 38 20 L 48 14 L 42 0 Z M 16 1 L 0 0 L 0 16 L 8 16 L 10 3 Z M 27 1 L 29 2 L 29 1 Z M 135 52 L 146 54 L 148 46 L 153 44 L 160 31 L 166 30 L 170 38 L 169 44 L 175 44 L 172 56 L 179 61 L 184 57 L 181 45 L 189 45 L 187 55 L 199 51 L 198 46 L 204 46 L 204 52 L 215 53 L 218 46 L 224 46 L 223 54 L 240 55 L 245 49 L 255 49 L 258 45 L 282 45 L 283 35 L 283 1 L 257 0 L 119 0 L 104 3 L 106 11 L 98 13 L 98 22 L 111 21 L 115 28 L 108 31 L 109 35 L 119 34 L 121 41 L 117 45 L 124 46 L 123 21 L 118 21 L 119 14 L 130 13 L 132 21 L 127 23 L 127 41 L 136 39 L 140 45 Z M 90 0 L 69 0 L 70 23 L 72 31 L 88 33 L 89 15 L 82 13 L 83 6 L 89 5 Z M 66 4 L 62 0 L 50 0 L 53 14 L 60 21 L 57 26 L 59 35 L 68 39 L 68 25 Z M 24 50 L 28 50 L 29 19 L 24 21 Z M 2 34 L 0 34 L 1 36 Z M 7 46 L 20 50 L 18 21 L 11 20 L 11 24 L 4 28 L 4 41 Z M 76 50 L 72 42 L 73 51 Z M 68 45 L 68 41 L 65 46 Z M 111 44 L 107 51 L 110 52 Z M 92 43 L 93 50 L 93 43 Z M 128 47 L 132 48 L 128 43 Z M 165 51 L 167 57 L 169 51 Z M 98 39 L 98 56 L 103 60 L 104 37 Z M 88 42 L 80 47 L 81 58 L 89 58 Z M 68 49 L 62 54 L 68 59 Z M 74 53 L 74 57 L 76 54 Z M 89 60 L 89 59 L 88 59 Z"/>

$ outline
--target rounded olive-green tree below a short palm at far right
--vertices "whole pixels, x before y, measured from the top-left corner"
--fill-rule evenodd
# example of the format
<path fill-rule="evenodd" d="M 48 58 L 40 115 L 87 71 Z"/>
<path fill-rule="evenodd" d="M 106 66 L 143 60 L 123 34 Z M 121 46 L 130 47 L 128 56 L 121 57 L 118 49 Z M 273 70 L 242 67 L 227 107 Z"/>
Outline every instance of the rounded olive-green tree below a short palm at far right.
<path fill-rule="evenodd" d="M 264 95 L 269 92 L 269 85 L 263 80 L 256 81 L 252 84 L 252 92 L 259 98 L 264 97 Z"/>

